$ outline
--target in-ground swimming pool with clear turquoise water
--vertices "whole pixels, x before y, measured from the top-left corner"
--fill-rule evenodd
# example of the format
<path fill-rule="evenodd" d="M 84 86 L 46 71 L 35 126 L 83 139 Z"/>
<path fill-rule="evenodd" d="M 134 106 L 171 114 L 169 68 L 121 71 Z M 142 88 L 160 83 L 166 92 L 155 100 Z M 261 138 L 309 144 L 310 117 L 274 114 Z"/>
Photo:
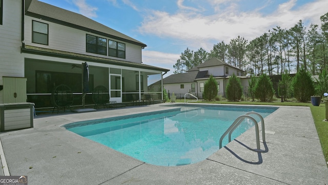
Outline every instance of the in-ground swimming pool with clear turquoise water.
<path fill-rule="evenodd" d="M 219 150 L 220 137 L 238 116 L 255 111 L 264 118 L 276 109 L 268 106 L 184 106 L 75 122 L 65 127 L 141 161 L 176 166 L 202 161 Z M 260 121 L 257 116 L 254 118 Z M 232 139 L 253 125 L 251 120 L 244 120 L 233 132 Z M 222 146 L 227 143 L 228 137 L 223 139 Z"/>

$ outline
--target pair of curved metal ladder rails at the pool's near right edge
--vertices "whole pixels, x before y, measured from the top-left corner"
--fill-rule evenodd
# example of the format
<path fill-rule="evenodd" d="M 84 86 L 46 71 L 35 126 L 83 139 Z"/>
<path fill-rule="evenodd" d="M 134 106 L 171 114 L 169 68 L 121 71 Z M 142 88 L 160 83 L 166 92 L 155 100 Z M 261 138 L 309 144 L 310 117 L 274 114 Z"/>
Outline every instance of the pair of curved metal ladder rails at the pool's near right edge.
<path fill-rule="evenodd" d="M 220 138 L 220 145 L 219 148 L 221 149 L 222 147 L 222 140 L 223 138 L 229 134 L 229 142 L 231 141 L 231 134 L 232 132 L 237 128 L 237 126 L 244 120 L 244 119 L 250 119 L 254 122 L 255 125 L 255 134 L 256 134 L 256 146 L 257 149 L 254 149 L 255 152 L 263 152 L 263 150 L 260 149 L 260 138 L 259 138 L 259 128 L 258 128 L 258 124 L 257 121 L 250 115 L 257 115 L 260 119 L 261 119 L 261 128 L 262 128 L 262 142 L 265 143 L 265 130 L 264 130 L 264 120 L 263 117 L 256 113 L 256 112 L 249 112 L 246 113 L 244 115 L 239 116 L 233 123 L 232 125 L 228 128 L 228 130 L 226 132 L 224 132 L 224 134 L 221 136 Z M 228 142 L 228 143 L 229 143 Z"/>

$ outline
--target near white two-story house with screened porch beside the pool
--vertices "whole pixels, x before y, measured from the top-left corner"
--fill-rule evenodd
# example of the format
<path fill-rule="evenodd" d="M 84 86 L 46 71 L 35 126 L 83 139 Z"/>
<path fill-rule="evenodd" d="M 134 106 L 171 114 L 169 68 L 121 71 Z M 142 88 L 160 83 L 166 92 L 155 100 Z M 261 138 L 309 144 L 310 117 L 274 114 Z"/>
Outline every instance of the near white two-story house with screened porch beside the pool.
<path fill-rule="evenodd" d="M 37 0 L 0 0 L 0 103 L 33 102 L 52 107 L 61 84 L 81 104 L 82 64 L 89 66 L 89 91 L 105 86 L 110 101 L 129 102 L 148 91 L 148 78 L 162 82 L 168 69 L 142 63 L 146 44 L 81 14 Z M 18 99 L 20 98 L 20 99 Z"/>

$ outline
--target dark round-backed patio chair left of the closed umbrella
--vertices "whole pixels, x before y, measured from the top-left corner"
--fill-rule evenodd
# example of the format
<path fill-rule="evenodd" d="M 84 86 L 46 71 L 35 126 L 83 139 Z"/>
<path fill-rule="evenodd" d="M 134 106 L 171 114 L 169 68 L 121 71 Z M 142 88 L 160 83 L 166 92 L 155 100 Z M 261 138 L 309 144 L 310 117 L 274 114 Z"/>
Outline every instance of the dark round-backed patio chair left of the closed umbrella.
<path fill-rule="evenodd" d="M 60 108 L 64 108 L 64 112 L 66 111 L 66 107 L 70 109 L 70 106 L 73 104 L 73 93 L 72 90 L 65 84 L 61 84 L 55 87 L 51 94 L 52 102 L 54 107 L 52 109 L 52 113 L 55 108 L 57 108 L 57 113 Z"/>

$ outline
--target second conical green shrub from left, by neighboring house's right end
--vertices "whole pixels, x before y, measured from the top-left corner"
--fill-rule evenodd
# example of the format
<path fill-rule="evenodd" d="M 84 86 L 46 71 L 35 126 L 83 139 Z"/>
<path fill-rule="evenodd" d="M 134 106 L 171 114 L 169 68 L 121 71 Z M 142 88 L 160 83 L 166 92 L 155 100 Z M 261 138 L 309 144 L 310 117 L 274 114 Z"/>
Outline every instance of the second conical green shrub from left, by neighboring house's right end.
<path fill-rule="evenodd" d="M 227 85 L 227 99 L 229 101 L 239 101 L 242 96 L 242 86 L 240 79 L 233 73 Z"/>

